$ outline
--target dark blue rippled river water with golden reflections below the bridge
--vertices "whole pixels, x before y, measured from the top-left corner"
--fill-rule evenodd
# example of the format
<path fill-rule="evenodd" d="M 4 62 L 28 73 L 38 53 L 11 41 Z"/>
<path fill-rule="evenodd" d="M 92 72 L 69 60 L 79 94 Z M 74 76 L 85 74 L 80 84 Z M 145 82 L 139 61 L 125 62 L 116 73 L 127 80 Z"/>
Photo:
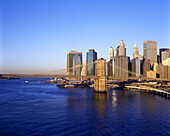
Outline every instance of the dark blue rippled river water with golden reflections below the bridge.
<path fill-rule="evenodd" d="M 44 79 L 0 80 L 0 136 L 170 135 L 170 101 L 164 97 L 37 82 Z"/>

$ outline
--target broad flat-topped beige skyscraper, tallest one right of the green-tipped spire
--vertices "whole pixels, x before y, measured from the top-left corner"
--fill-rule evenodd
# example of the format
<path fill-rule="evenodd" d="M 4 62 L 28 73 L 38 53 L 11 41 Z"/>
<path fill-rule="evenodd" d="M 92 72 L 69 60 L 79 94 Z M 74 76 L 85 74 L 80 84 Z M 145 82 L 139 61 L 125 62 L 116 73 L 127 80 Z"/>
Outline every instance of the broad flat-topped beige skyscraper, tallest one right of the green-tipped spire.
<path fill-rule="evenodd" d="M 157 42 L 144 41 L 143 42 L 144 59 L 150 59 L 151 67 L 157 63 Z"/>

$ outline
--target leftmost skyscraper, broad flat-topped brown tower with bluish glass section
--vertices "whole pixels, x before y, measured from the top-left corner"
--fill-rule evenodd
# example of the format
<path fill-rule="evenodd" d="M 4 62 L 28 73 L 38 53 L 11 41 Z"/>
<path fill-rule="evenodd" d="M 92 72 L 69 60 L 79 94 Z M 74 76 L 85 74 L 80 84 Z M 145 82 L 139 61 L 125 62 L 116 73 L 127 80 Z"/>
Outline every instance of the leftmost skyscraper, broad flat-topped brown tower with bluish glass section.
<path fill-rule="evenodd" d="M 82 52 L 67 52 L 67 75 L 76 75 L 76 65 L 79 61 L 82 64 Z"/>

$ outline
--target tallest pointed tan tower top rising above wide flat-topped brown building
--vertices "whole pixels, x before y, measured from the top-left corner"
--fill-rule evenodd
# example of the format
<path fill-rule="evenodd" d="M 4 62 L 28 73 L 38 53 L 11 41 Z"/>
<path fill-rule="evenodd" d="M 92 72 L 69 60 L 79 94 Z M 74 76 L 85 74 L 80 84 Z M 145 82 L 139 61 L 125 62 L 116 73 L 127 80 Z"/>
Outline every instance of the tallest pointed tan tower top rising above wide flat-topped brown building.
<path fill-rule="evenodd" d="M 120 45 L 116 48 L 116 56 L 126 56 L 126 48 L 123 40 L 121 40 Z"/>

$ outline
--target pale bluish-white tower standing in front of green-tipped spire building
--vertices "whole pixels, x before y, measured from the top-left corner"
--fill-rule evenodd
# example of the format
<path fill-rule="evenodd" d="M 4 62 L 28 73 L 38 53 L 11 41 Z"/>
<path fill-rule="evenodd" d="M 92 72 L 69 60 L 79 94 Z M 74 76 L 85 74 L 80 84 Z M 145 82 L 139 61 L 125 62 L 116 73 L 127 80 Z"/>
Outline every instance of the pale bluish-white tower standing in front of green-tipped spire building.
<path fill-rule="evenodd" d="M 132 76 L 139 77 L 141 75 L 141 60 L 134 58 L 132 60 Z"/>

